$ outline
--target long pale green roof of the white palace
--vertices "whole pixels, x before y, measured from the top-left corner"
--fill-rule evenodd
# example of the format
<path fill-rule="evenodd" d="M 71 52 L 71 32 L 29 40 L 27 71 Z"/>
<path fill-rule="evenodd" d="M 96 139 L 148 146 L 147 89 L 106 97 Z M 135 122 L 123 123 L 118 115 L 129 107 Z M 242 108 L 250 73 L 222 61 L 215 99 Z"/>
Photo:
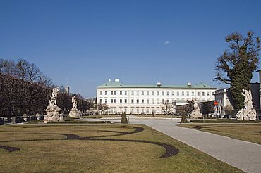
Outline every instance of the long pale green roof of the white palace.
<path fill-rule="evenodd" d="M 188 85 L 160 85 L 157 84 L 123 84 L 121 82 L 106 82 L 99 87 L 108 87 L 108 88 L 195 88 L 195 89 L 216 89 L 205 83 L 195 84 L 194 86 L 189 87 Z"/>

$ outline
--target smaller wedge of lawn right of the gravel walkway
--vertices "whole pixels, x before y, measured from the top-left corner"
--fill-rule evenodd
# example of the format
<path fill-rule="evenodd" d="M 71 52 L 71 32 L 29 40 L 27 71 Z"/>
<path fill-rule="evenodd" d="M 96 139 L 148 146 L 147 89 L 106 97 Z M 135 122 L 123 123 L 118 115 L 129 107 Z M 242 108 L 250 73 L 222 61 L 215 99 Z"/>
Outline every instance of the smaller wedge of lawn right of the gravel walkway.
<path fill-rule="evenodd" d="M 198 129 L 233 139 L 250 141 L 261 145 L 261 124 L 180 124 L 181 127 Z"/>

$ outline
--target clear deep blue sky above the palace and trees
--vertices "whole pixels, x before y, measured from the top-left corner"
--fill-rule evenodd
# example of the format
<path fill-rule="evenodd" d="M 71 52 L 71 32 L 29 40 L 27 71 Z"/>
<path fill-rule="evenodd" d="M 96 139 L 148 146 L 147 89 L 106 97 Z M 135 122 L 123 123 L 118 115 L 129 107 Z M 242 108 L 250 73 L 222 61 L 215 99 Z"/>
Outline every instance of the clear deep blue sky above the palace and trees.
<path fill-rule="evenodd" d="M 261 36 L 260 9 L 259 0 L 0 0 L 0 58 L 35 63 L 85 98 L 116 78 L 224 87 L 212 81 L 224 37 Z"/>

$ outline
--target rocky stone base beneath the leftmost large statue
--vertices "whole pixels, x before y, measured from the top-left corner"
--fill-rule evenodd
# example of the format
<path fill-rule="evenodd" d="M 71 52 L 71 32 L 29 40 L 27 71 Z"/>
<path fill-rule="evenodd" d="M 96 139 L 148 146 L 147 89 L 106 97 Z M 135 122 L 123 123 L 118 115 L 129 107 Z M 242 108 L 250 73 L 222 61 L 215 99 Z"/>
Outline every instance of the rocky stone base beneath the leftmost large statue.
<path fill-rule="evenodd" d="M 44 122 L 54 122 L 63 120 L 63 115 L 60 114 L 60 109 L 56 105 L 48 105 L 45 111 L 47 115 L 44 115 Z"/>

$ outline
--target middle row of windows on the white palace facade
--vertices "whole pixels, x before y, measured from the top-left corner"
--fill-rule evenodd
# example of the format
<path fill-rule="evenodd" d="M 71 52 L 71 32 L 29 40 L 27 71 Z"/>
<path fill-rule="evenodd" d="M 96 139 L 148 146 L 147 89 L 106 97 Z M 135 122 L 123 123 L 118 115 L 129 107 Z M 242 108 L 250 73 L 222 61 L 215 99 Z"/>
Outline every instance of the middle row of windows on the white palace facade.
<path fill-rule="evenodd" d="M 164 99 L 164 98 L 162 98 L 162 99 L 160 99 L 160 98 L 147 98 L 147 99 L 144 99 L 144 98 L 131 98 L 131 100 L 130 100 L 130 103 L 131 104 L 155 104 L 155 103 L 157 103 L 157 104 L 159 104 L 159 103 L 162 103 L 162 102 L 164 102 L 164 101 L 166 101 L 167 103 L 171 103 L 172 101 L 174 101 L 174 100 L 176 100 L 176 101 L 188 101 L 190 98 L 171 98 L 171 99 Z M 151 101 L 150 101 L 151 100 Z M 205 101 L 205 98 L 202 98 L 201 99 L 202 101 Z M 206 99 L 207 101 L 210 101 L 210 98 L 207 98 Z M 214 100 L 214 98 L 212 98 L 212 100 Z M 105 98 L 104 100 L 102 99 L 102 98 L 100 98 L 99 99 L 99 103 L 108 103 L 108 99 L 107 98 Z M 111 104 L 116 104 L 116 98 L 111 98 L 110 99 L 110 103 Z M 124 98 L 124 99 L 122 99 L 122 98 L 120 98 L 119 99 L 119 103 L 120 104 L 128 104 L 128 99 L 127 98 Z"/>

